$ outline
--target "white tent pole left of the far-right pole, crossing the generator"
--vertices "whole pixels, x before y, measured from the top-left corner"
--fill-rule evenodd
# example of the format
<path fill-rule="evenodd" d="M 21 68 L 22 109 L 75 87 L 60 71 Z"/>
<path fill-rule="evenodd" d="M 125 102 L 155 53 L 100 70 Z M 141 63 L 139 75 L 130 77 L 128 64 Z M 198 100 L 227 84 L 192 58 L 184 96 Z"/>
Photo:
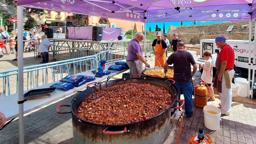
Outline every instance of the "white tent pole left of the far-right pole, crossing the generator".
<path fill-rule="evenodd" d="M 250 6 L 250 10 L 251 10 L 251 6 Z M 249 15 L 249 59 L 248 59 L 248 98 L 250 97 L 250 83 L 251 83 L 251 38 L 252 38 L 252 17 L 251 15 Z M 252 99 L 252 98 L 251 98 Z"/>

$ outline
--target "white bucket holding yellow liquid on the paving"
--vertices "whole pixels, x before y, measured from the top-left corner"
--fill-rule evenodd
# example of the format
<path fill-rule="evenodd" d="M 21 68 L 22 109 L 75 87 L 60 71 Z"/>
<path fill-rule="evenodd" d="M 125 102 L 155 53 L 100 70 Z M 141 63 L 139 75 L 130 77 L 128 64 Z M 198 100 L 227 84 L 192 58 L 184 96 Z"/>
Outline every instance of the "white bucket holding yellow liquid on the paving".
<path fill-rule="evenodd" d="M 207 111 L 215 111 L 218 114 L 211 114 Z M 210 130 L 218 130 L 220 128 L 220 109 L 213 105 L 204 106 L 204 125 Z"/>

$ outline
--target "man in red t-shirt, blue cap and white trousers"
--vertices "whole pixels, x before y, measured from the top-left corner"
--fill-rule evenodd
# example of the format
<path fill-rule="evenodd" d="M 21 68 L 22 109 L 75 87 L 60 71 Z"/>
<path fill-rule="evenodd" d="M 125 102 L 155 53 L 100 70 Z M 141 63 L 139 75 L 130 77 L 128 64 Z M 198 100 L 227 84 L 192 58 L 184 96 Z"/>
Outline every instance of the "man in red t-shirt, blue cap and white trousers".
<path fill-rule="evenodd" d="M 217 88 L 220 95 L 221 114 L 229 115 L 232 101 L 231 81 L 235 74 L 233 69 L 235 53 L 232 47 L 226 43 L 224 36 L 217 36 L 215 43 L 218 48 L 221 49 L 221 51 L 217 54 L 215 62 L 217 71 L 213 82 L 213 87 Z"/>

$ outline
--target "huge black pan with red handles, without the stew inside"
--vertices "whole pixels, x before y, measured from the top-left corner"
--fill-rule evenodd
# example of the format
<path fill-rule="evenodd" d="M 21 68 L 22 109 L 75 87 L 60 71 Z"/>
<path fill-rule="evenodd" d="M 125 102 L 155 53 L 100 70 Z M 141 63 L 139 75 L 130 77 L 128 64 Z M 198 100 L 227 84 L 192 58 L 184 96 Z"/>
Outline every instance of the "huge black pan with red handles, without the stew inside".
<path fill-rule="evenodd" d="M 172 128 L 179 124 L 184 116 L 183 112 L 176 110 L 184 105 L 184 100 L 179 100 L 179 102 L 182 102 L 180 107 L 173 107 L 174 103 L 177 102 L 176 98 L 178 93 L 177 88 L 173 85 L 175 81 L 168 81 L 172 81 L 172 83 L 153 78 L 128 78 L 103 82 L 79 93 L 73 98 L 71 105 L 58 106 L 57 111 L 60 114 L 71 113 L 73 143 L 75 144 L 162 144 L 170 135 Z M 80 104 L 85 101 L 88 96 L 105 88 L 129 83 L 149 83 L 165 88 L 171 94 L 172 102 L 170 107 L 149 119 L 120 125 L 93 123 L 77 116 Z M 71 107 L 71 111 L 60 111 L 60 107 L 63 106 Z"/>

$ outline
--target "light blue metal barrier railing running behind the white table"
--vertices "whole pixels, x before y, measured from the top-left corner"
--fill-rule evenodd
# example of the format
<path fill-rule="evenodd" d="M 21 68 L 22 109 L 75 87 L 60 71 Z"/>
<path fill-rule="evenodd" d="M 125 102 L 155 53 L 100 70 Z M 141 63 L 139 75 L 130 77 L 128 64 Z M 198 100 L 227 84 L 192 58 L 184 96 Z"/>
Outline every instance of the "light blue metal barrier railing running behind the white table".
<path fill-rule="evenodd" d="M 58 81 L 68 74 L 76 75 L 95 70 L 98 68 L 99 60 L 105 59 L 110 52 L 111 50 L 106 50 L 92 56 L 24 67 L 24 90 Z M 4 96 L 17 93 L 17 68 L 0 71 L 0 80 L 3 84 L 0 91 L 3 91 Z"/>

